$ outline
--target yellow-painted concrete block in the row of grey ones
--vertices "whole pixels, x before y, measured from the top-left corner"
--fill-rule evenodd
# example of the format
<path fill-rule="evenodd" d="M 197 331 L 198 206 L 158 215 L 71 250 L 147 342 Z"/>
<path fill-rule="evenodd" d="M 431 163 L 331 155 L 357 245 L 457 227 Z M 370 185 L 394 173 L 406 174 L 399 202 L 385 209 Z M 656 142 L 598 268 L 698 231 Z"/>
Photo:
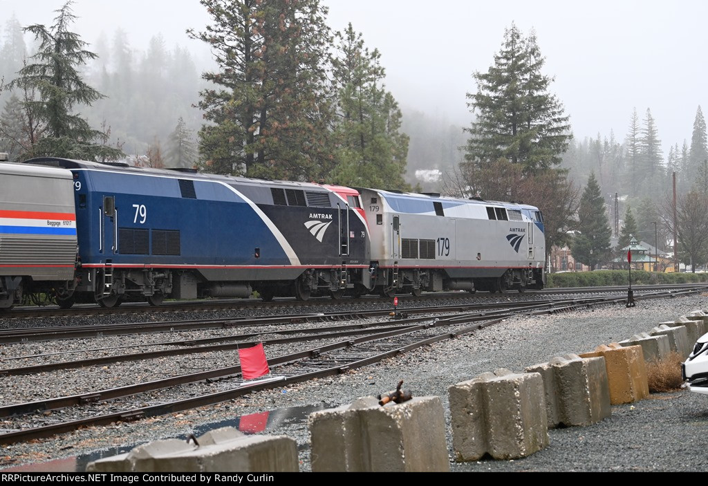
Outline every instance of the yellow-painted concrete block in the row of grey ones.
<path fill-rule="evenodd" d="M 612 405 L 632 403 L 649 396 L 649 382 L 641 346 L 623 347 L 611 343 L 609 346 L 600 345 L 595 348 L 595 351 L 580 356 L 605 358 Z"/>

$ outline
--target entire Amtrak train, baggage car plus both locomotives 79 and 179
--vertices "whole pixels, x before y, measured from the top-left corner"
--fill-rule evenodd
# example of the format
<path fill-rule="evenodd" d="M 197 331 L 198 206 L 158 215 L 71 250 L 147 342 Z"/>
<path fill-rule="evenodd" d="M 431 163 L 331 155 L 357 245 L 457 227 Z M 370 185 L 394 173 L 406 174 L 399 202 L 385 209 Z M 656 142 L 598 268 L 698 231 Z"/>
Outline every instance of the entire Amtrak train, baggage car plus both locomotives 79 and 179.
<path fill-rule="evenodd" d="M 1 165 L 0 309 L 40 292 L 68 308 L 544 284 L 542 215 L 525 204 L 53 157 Z"/>

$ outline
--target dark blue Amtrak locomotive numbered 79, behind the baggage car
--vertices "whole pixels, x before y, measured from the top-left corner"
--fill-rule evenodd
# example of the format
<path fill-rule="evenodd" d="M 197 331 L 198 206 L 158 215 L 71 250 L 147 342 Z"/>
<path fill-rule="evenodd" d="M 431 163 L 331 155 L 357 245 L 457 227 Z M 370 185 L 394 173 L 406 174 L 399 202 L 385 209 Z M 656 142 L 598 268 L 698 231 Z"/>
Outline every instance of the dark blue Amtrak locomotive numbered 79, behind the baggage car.
<path fill-rule="evenodd" d="M 79 260 L 62 306 L 76 296 L 107 307 L 253 291 L 265 300 L 338 298 L 367 281 L 367 226 L 336 187 L 62 158 L 25 163 L 72 173 Z"/>

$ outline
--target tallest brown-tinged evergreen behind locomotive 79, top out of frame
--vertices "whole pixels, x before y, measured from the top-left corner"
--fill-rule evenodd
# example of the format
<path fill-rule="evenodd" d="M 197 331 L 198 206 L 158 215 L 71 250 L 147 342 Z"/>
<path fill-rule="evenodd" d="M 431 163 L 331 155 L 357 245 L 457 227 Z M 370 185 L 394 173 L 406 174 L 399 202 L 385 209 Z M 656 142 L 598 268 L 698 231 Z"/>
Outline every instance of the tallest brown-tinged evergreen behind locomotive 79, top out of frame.
<path fill-rule="evenodd" d="M 207 170 L 319 179 L 333 166 L 326 87 L 329 28 L 319 0 L 200 0 L 219 70 L 202 75 Z"/>

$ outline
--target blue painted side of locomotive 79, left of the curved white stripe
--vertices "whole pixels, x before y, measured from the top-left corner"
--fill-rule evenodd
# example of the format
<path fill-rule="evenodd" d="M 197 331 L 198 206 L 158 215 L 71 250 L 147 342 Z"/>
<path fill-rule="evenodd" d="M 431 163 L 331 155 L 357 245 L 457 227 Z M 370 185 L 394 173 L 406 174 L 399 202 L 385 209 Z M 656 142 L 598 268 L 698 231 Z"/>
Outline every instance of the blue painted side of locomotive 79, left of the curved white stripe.
<path fill-rule="evenodd" d="M 182 197 L 178 178 L 111 170 L 74 172 L 81 183 L 76 190 L 76 226 L 83 264 L 112 260 L 113 265 L 291 265 L 261 216 L 221 183 L 194 180 L 197 198 L 191 199 Z M 81 204 L 81 194 L 86 195 L 86 204 Z M 180 255 L 152 255 L 152 235 L 149 255 L 123 254 L 120 248 L 114 253 L 113 222 L 99 214 L 104 196 L 115 196 L 118 228 L 180 231 Z M 99 218 L 105 224 L 103 245 Z M 255 258 L 255 248 L 260 248 L 261 258 Z"/>

